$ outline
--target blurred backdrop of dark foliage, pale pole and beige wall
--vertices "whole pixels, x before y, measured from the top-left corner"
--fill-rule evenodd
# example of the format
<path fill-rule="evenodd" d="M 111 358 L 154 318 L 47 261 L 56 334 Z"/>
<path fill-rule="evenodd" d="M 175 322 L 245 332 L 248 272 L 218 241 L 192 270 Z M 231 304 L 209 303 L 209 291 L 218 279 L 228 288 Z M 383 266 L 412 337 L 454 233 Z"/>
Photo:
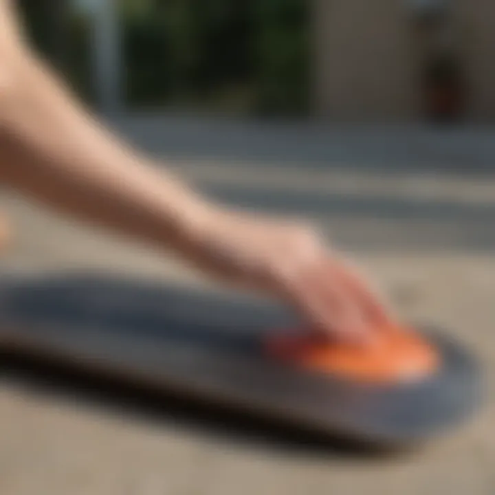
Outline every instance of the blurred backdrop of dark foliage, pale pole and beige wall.
<path fill-rule="evenodd" d="M 23 0 L 108 111 L 331 122 L 495 119 L 491 0 Z"/>

